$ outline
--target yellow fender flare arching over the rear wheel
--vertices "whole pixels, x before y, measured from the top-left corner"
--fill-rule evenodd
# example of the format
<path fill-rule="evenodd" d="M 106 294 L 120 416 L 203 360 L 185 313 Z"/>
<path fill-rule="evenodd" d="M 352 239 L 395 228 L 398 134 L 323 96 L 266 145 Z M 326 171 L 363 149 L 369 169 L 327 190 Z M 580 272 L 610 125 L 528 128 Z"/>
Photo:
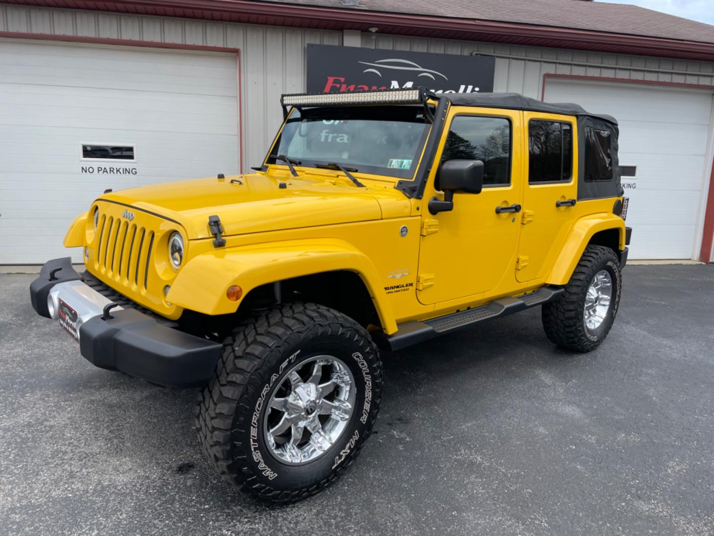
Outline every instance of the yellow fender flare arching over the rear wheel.
<path fill-rule="evenodd" d="M 558 259 L 556 259 L 553 269 L 545 279 L 545 282 L 549 284 L 567 284 L 590 239 L 593 238 L 595 233 L 607 231 L 608 229 L 618 229 L 620 233 L 618 247 L 620 251 L 625 249 L 625 220 L 619 216 L 615 216 L 610 212 L 600 212 L 578 219 L 573 228 L 570 229 L 568 239 L 565 241 L 563 249 L 560 249 Z"/>

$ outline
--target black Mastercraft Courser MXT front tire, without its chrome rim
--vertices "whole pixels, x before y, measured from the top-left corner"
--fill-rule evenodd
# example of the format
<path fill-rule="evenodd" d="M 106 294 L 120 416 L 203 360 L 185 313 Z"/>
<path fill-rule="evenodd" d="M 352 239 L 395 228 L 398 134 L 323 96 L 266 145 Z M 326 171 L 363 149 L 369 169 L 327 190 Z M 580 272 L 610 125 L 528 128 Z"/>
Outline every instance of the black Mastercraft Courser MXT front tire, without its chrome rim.
<path fill-rule="evenodd" d="M 262 433 L 271 390 L 291 368 L 286 361 L 297 364 L 326 348 L 339 352 L 356 380 L 348 426 L 313 462 L 283 464 Z M 301 500 L 329 485 L 355 460 L 376 420 L 381 386 L 378 349 L 363 327 L 328 307 L 284 304 L 256 314 L 226 338 L 196 407 L 198 440 L 216 472 L 245 495 L 269 502 Z M 256 415 L 258 427 L 251 425 Z"/>

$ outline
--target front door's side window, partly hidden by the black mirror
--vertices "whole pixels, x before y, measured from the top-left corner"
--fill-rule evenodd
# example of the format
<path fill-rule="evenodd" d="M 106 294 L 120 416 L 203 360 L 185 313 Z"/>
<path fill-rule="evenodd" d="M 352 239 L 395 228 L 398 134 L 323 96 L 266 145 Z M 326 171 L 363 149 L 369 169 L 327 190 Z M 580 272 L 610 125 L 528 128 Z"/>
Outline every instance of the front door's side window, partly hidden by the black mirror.
<path fill-rule="evenodd" d="M 481 160 L 483 185 L 511 184 L 511 121 L 459 115 L 451 121 L 441 161 Z"/>

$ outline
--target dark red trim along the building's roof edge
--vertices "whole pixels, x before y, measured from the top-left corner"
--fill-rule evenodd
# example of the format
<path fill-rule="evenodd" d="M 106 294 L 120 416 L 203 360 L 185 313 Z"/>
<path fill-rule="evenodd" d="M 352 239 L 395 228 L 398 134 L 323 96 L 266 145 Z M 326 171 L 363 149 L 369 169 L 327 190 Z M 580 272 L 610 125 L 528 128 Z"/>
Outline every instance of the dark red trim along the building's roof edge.
<path fill-rule="evenodd" d="M 453 19 L 383 11 L 334 9 L 250 0 L 4 0 L 9 4 L 69 7 L 92 11 L 156 14 L 191 19 L 244 22 L 311 29 L 356 29 L 377 26 L 381 34 L 430 36 L 532 46 L 640 54 L 714 61 L 714 44 L 658 37 L 608 34 L 495 21 Z"/>

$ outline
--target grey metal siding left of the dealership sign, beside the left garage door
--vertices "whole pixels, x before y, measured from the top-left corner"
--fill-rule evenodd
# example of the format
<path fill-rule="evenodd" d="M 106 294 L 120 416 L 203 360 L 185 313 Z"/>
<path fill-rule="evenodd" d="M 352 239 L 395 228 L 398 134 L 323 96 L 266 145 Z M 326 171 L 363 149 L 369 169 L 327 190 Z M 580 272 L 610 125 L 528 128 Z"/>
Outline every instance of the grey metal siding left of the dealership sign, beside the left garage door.
<path fill-rule="evenodd" d="M 341 31 L 9 4 L 0 4 L 1 31 L 240 49 L 243 170 L 257 166 L 265 157 L 283 119 L 281 94 L 303 91 L 306 44 L 342 44 Z"/>

